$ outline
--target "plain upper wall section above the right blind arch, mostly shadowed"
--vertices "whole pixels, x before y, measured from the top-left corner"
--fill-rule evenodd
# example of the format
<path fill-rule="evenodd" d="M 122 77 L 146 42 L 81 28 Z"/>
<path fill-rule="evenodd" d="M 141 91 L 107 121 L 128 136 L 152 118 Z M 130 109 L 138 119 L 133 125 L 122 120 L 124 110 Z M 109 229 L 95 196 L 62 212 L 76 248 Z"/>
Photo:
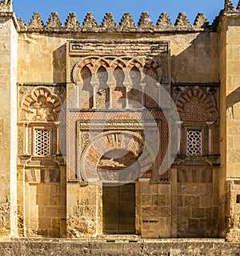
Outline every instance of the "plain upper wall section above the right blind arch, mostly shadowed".
<path fill-rule="evenodd" d="M 171 56 L 172 81 L 219 82 L 217 33 L 178 34 L 171 42 L 171 52 L 177 53 Z"/>

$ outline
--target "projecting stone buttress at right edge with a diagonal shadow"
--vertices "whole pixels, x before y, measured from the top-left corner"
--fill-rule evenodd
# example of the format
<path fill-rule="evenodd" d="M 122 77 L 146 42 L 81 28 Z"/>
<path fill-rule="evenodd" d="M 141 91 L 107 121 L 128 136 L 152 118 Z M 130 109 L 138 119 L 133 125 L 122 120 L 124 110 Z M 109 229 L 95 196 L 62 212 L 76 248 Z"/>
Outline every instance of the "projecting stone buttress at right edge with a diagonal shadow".
<path fill-rule="evenodd" d="M 221 203 L 226 204 L 226 237 L 239 238 L 238 178 L 239 178 L 239 17 L 231 15 L 222 18 L 220 33 L 220 94 L 221 113 Z M 229 180 L 225 182 L 225 178 Z M 225 192 L 224 192 L 225 191 Z M 224 234 L 223 234 L 224 235 Z"/>

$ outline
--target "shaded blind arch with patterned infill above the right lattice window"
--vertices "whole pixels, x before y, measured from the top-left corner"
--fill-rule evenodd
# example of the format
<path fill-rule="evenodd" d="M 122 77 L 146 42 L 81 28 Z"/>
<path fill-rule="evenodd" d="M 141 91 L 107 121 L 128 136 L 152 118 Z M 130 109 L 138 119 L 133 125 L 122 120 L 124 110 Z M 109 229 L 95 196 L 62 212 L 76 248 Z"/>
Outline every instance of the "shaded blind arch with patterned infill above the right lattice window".
<path fill-rule="evenodd" d="M 182 121 L 215 121 L 218 118 L 212 94 L 200 88 L 190 88 L 178 97 L 176 106 Z"/>

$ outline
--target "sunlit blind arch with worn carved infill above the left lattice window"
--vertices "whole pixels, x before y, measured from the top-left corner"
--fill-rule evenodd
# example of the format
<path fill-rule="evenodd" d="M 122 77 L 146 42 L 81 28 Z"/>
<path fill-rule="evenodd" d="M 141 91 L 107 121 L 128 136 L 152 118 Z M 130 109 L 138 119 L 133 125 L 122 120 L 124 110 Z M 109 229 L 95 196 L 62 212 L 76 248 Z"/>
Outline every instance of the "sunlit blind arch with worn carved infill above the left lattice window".
<path fill-rule="evenodd" d="M 62 101 L 46 87 L 38 86 L 22 102 L 20 119 L 26 121 L 56 121 Z"/>

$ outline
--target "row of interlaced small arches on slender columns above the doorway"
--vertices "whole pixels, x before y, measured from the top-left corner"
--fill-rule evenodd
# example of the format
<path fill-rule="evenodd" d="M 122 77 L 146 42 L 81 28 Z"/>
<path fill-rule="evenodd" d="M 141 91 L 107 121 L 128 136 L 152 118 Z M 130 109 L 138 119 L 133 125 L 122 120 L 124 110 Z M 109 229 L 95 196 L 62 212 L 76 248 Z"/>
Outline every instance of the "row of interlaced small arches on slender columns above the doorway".
<path fill-rule="evenodd" d="M 161 63 L 144 58 L 83 58 L 72 75 L 82 109 L 159 108 L 166 83 Z"/>

